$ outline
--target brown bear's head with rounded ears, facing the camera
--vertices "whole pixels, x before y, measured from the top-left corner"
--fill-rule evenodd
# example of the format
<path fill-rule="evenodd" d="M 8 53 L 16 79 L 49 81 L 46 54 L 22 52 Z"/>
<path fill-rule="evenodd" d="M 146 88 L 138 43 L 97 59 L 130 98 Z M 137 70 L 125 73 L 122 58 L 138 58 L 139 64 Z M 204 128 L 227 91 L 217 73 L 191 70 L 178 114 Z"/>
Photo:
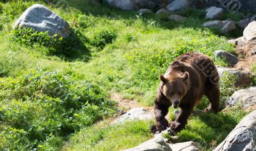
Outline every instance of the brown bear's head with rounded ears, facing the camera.
<path fill-rule="evenodd" d="M 189 89 L 189 73 L 178 73 L 175 75 L 169 75 L 164 77 L 160 75 L 160 80 L 163 82 L 160 89 L 164 96 L 169 99 L 173 105 L 173 108 L 177 108 L 180 101 L 186 96 Z"/>

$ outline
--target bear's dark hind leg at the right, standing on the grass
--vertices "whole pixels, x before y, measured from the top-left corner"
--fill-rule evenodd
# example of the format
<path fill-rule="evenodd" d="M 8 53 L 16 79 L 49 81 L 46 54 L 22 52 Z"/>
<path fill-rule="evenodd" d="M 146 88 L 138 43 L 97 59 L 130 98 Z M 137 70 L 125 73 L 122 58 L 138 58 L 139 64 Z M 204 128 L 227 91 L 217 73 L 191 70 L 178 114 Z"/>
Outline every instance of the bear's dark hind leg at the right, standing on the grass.
<path fill-rule="evenodd" d="M 207 92 L 205 95 L 210 101 L 210 105 L 205 108 L 205 112 L 213 111 L 214 113 L 218 113 L 220 110 L 220 89 L 218 85 L 211 85 L 211 87 L 207 87 Z"/>

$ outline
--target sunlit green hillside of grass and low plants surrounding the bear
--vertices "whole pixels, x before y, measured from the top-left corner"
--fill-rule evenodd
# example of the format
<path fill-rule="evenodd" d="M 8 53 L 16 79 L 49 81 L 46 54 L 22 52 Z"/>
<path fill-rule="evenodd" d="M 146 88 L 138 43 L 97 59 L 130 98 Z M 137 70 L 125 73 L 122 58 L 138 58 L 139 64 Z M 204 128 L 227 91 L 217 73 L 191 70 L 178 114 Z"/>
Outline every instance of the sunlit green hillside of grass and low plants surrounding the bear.
<path fill-rule="evenodd" d="M 47 34 L 30 29 L 12 29 L 22 12 L 36 3 L 67 20 L 72 27 L 70 37 L 51 40 Z M 115 115 L 116 103 L 108 99 L 109 94 L 118 92 L 152 106 L 158 76 L 175 57 L 189 51 L 212 59 L 214 50 L 234 53 L 228 37 L 241 33 L 221 35 L 216 29 L 202 28 L 206 21 L 202 10 L 180 12 L 189 19 L 175 22 L 167 15 L 120 11 L 98 1 L 67 3 L 66 9 L 47 1 L 0 2 L 0 150 L 58 150 L 69 138 L 70 150 L 134 147 L 152 136 L 148 133 L 152 122 L 112 127 L 107 120 L 103 126 L 93 125 Z M 214 62 L 227 66 L 223 60 Z M 223 99 L 230 95 L 227 87 L 234 90 L 228 78 L 227 85 L 221 89 Z M 203 101 L 198 108 L 205 105 Z M 191 138 L 219 143 L 244 115 L 227 111 L 207 118 L 191 117 L 177 141 Z M 211 117 L 220 123 L 231 120 L 227 131 L 219 133 L 220 124 L 212 129 L 205 125 L 205 119 Z M 196 126 L 204 131 L 196 131 Z M 206 135 L 208 130 L 212 133 Z"/>

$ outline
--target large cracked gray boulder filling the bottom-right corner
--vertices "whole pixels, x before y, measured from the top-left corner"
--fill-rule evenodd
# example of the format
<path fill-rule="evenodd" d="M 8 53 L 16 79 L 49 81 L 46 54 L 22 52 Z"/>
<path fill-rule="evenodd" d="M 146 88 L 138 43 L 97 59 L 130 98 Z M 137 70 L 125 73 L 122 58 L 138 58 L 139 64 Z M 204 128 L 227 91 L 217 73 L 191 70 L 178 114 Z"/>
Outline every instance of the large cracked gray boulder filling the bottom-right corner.
<path fill-rule="evenodd" d="M 233 129 L 214 151 L 256 150 L 256 111 L 253 111 Z"/>

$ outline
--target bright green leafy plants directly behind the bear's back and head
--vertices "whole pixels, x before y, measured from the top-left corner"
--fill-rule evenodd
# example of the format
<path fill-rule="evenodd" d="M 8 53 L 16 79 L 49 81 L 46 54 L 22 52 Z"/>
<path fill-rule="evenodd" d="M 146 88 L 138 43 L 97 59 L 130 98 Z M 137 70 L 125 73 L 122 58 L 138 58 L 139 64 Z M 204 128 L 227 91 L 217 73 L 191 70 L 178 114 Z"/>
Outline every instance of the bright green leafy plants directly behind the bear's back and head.
<path fill-rule="evenodd" d="M 141 47 L 131 50 L 127 54 L 127 60 L 134 66 L 135 75 L 145 80 L 157 80 L 160 74 L 163 74 L 168 66 L 180 55 L 186 52 L 200 52 L 214 58 L 214 50 L 219 47 L 220 41 L 224 40 L 218 36 L 205 36 L 203 38 L 173 38 L 172 47 Z M 230 45 L 223 45 L 230 48 Z"/>

